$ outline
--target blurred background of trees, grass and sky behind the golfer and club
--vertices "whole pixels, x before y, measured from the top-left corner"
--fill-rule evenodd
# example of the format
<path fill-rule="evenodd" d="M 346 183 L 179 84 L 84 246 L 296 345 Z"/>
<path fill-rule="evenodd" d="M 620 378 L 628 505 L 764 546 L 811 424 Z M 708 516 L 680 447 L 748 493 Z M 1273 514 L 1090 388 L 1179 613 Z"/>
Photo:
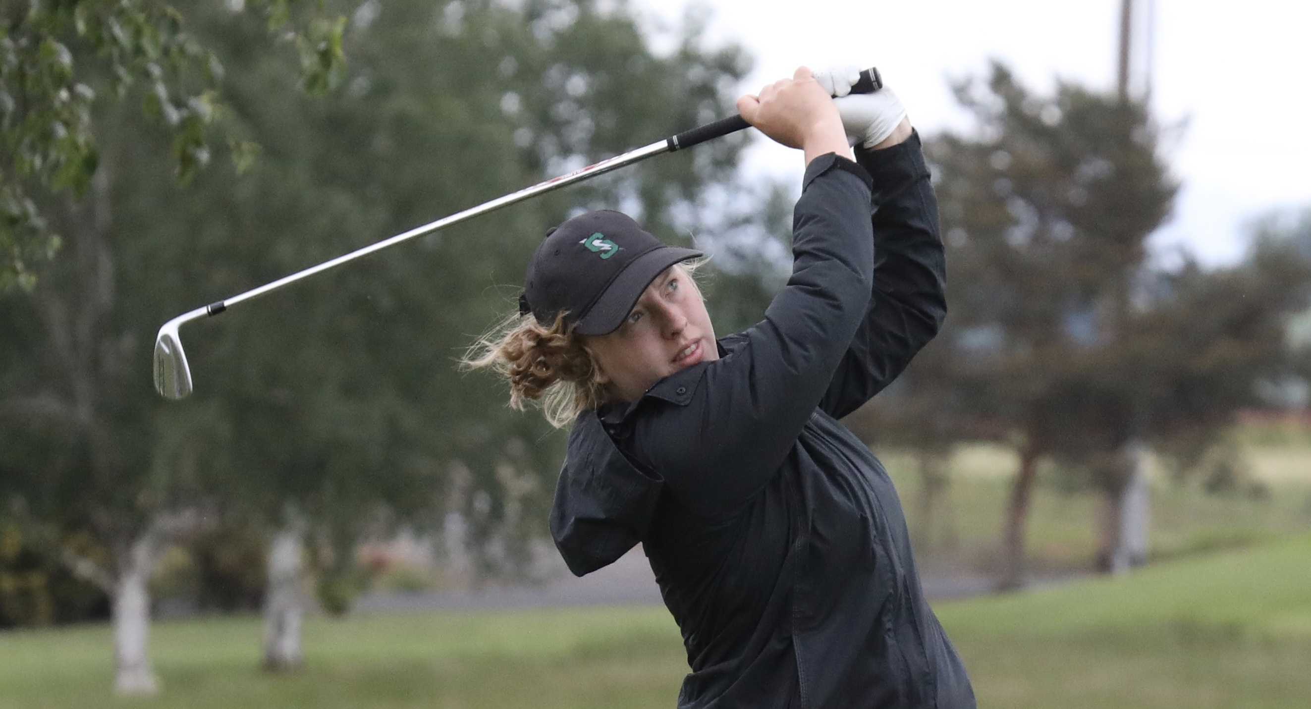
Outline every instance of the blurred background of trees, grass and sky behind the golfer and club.
<path fill-rule="evenodd" d="M 981 706 L 1311 697 L 1311 10 L 1181 0 L 0 4 L 0 706 L 669 706 L 640 549 L 576 579 L 566 432 L 456 360 L 545 228 L 789 270 L 746 131 L 169 318 L 877 66 L 933 169 L 941 334 L 846 419 Z M 1295 33 L 1298 35 L 1295 35 Z"/>

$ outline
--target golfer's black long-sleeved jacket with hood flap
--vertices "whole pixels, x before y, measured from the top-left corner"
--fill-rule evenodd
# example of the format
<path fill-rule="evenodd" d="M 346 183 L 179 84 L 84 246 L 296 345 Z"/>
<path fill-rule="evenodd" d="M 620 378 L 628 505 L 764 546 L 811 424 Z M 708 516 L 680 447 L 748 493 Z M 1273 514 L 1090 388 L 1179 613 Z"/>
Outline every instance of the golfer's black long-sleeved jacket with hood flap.
<path fill-rule="evenodd" d="M 975 705 L 893 484 L 836 421 L 947 313 L 919 136 L 857 161 L 806 168 L 762 322 L 569 438 L 552 536 L 578 575 L 644 544 L 687 647 L 683 708 Z"/>

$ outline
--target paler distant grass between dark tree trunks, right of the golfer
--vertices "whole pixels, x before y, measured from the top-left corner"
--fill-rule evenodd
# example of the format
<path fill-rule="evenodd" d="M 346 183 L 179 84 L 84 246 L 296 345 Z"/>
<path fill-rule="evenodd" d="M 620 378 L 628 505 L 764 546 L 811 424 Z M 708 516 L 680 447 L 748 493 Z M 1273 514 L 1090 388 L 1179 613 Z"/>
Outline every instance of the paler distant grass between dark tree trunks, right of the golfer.
<path fill-rule="evenodd" d="M 1311 446 L 1281 440 L 1243 447 L 1264 495 L 1251 494 L 1252 486 L 1211 494 L 1200 481 L 1173 481 L 1151 461 L 1151 557 L 1244 546 L 1311 528 Z M 897 451 L 876 452 L 897 482 L 916 556 L 926 567 L 987 574 L 999 566 L 1002 523 L 1017 467 L 1013 451 L 962 447 L 950 461 L 952 481 L 931 524 L 919 506 L 922 482 L 915 459 Z M 1058 574 L 1089 569 L 1101 505 L 1095 490 L 1071 485 L 1049 463 L 1040 465 L 1025 537 L 1029 567 Z"/>

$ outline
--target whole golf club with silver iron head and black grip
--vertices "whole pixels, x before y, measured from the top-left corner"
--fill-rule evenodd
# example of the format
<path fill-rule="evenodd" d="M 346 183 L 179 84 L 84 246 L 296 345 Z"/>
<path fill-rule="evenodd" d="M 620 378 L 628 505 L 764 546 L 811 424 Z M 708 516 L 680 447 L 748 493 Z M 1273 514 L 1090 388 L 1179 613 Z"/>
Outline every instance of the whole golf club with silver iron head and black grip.
<path fill-rule="evenodd" d="M 878 76 L 878 69 L 868 68 L 860 72 L 860 81 L 857 81 L 856 85 L 852 86 L 851 93 L 873 93 L 881 88 L 882 88 L 882 79 Z M 328 269 L 349 263 L 359 257 L 383 250 L 395 244 L 400 244 L 401 241 L 406 241 L 417 236 L 423 236 L 435 232 L 444 227 L 450 227 L 451 224 L 459 224 L 460 221 L 472 219 L 481 214 L 488 214 L 501 207 L 514 204 L 515 202 L 523 202 L 530 197 L 536 197 L 539 194 L 556 190 L 566 185 L 573 185 L 574 182 L 581 182 L 590 177 L 595 177 L 598 174 L 619 169 L 625 165 L 632 165 L 633 163 L 645 160 L 653 155 L 674 152 L 683 148 L 691 148 L 692 145 L 696 145 L 699 143 L 704 143 L 707 140 L 713 140 L 716 138 L 737 132 L 749 126 L 750 125 L 741 115 L 721 118 L 720 121 L 705 123 L 704 126 L 697 126 L 688 131 L 671 135 L 665 140 L 652 143 L 650 145 L 645 145 L 642 148 L 637 148 L 625 152 L 623 155 L 602 160 L 600 163 L 587 165 L 586 168 L 577 169 L 568 174 L 552 177 L 551 180 L 539 182 L 531 187 L 524 187 L 517 193 L 498 197 L 490 202 L 484 202 L 482 204 L 479 204 L 477 207 L 471 207 L 468 210 L 464 210 L 463 212 L 438 219 L 437 221 L 430 221 L 427 224 L 423 224 L 422 227 L 416 227 L 408 232 L 399 233 L 391 239 L 384 239 L 383 241 L 370 244 L 368 246 L 357 249 L 345 256 L 338 256 L 337 258 L 325 261 L 323 263 L 319 263 L 317 266 L 311 266 L 302 271 L 296 271 L 291 275 L 279 278 L 278 280 L 274 280 L 271 283 L 260 286 L 258 288 L 253 288 L 244 294 L 228 297 L 227 300 L 219 300 L 218 303 L 211 303 L 202 308 L 197 308 L 191 312 L 180 315 L 173 320 L 165 322 L 164 326 L 160 328 L 159 334 L 155 337 L 155 389 L 161 396 L 170 400 L 180 400 L 191 393 L 191 368 L 186 363 L 186 351 L 182 349 L 182 341 L 178 335 L 178 329 L 193 320 L 216 316 L 223 311 L 231 308 L 232 305 L 241 303 L 243 300 L 250 300 L 253 297 L 265 295 L 283 286 L 295 283 L 296 280 L 300 280 L 303 278 L 315 275 L 316 273 L 326 271 Z"/>

